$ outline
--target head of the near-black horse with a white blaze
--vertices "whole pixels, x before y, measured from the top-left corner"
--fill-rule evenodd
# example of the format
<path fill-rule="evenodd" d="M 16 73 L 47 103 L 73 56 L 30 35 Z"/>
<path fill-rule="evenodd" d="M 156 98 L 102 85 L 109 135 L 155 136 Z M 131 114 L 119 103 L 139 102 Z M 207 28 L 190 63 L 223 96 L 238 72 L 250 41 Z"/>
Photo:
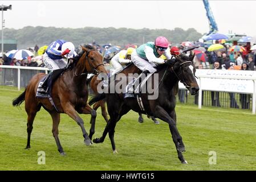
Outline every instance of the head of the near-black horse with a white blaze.
<path fill-rule="evenodd" d="M 199 86 L 196 81 L 196 68 L 193 65 L 193 56 L 178 55 L 174 56 L 176 63 L 172 66 L 172 72 L 177 76 L 178 80 L 184 84 L 192 95 L 197 94 Z"/>

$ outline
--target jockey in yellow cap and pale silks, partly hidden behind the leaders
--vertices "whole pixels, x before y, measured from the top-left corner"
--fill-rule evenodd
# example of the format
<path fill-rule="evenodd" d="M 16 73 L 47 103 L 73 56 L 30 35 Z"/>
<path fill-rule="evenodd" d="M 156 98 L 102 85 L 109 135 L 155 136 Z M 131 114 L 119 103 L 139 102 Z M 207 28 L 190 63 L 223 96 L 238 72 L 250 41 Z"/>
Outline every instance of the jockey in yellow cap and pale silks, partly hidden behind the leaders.
<path fill-rule="evenodd" d="M 113 71 L 112 75 L 115 75 L 115 73 L 123 69 L 123 65 L 132 62 L 131 55 L 133 51 L 135 51 L 135 48 L 129 47 L 127 50 L 121 50 L 119 53 L 112 57 L 111 63 L 115 68 L 115 71 Z"/>

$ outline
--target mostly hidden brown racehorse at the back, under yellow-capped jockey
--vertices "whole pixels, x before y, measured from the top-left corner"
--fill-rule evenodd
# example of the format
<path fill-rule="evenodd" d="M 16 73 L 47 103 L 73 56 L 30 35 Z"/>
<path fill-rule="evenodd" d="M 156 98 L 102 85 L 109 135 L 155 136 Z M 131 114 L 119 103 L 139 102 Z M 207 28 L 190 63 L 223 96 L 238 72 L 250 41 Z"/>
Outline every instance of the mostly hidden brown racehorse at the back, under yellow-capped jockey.
<path fill-rule="evenodd" d="M 141 73 L 141 71 L 139 68 L 136 67 L 135 64 L 130 63 L 126 67 L 124 67 L 124 69 L 122 71 L 120 71 L 120 73 L 123 73 L 124 75 L 128 75 L 128 73 Z M 89 82 L 90 82 L 91 89 L 94 91 L 95 94 L 97 94 L 98 93 L 97 85 L 101 82 L 101 80 L 97 79 L 97 75 L 94 75 L 90 79 L 87 80 L 87 84 L 89 84 Z M 101 107 L 101 115 L 105 119 L 105 122 L 108 122 L 108 113 L 105 108 L 105 100 L 96 102 L 93 106 L 93 109 L 97 110 L 99 107 Z M 151 118 L 155 123 L 159 123 L 159 121 L 157 121 L 156 118 L 154 118 L 152 116 L 148 115 L 148 118 Z M 142 117 L 141 113 L 139 113 L 138 121 L 140 123 L 143 123 L 143 117 Z"/>

